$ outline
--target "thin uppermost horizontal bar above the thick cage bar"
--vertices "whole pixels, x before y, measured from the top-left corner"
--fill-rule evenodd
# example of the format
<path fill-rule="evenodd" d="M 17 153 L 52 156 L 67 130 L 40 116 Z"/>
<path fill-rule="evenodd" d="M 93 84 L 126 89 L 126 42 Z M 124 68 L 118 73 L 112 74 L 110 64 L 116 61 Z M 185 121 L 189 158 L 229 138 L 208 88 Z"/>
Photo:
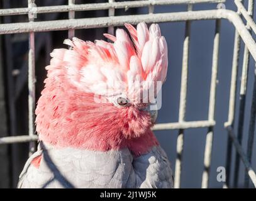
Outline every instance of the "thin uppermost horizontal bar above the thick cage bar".
<path fill-rule="evenodd" d="M 95 11 L 103 9 L 121 9 L 121 8 L 141 8 L 147 6 L 163 6 L 175 4 L 199 4 L 199 3 L 224 3 L 226 0 L 159 0 L 159 1 L 123 1 L 113 3 L 94 3 L 94 4 L 77 4 L 77 5 L 63 5 L 63 6 L 43 6 L 37 8 L 37 13 L 60 13 L 70 11 Z M 0 9 L 0 16 L 28 14 L 28 8 L 11 8 Z"/>

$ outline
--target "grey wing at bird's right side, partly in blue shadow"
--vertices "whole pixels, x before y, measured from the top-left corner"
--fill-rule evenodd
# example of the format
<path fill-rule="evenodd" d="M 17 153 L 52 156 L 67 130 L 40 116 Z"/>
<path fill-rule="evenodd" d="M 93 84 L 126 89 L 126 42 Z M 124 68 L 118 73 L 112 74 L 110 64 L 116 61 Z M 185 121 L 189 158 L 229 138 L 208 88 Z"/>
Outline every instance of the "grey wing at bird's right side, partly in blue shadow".
<path fill-rule="evenodd" d="M 136 173 L 136 187 L 173 188 L 174 180 L 170 161 L 160 146 L 135 158 L 133 168 Z"/>

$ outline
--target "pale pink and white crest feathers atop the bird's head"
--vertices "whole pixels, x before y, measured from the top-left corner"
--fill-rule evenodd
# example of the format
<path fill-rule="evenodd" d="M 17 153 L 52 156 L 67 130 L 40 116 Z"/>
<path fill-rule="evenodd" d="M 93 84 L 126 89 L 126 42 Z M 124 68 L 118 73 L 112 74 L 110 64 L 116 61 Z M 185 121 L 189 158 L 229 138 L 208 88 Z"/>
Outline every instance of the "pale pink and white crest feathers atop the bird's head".
<path fill-rule="evenodd" d="M 62 60 L 58 62 L 65 65 L 67 77 L 84 92 L 123 94 L 140 102 L 143 90 L 148 90 L 153 82 L 165 80 L 167 45 L 157 24 L 152 24 L 149 30 L 145 23 L 138 24 L 137 30 L 131 24 L 125 26 L 133 43 L 121 29 L 116 30 L 116 36 L 104 34 L 114 43 L 103 40 L 92 43 L 73 38 L 72 41 L 64 41 L 72 46 L 72 50 L 53 51 L 53 60 Z M 135 82 L 144 88 L 136 87 L 135 90 Z M 131 94 L 133 97 L 130 97 Z"/>

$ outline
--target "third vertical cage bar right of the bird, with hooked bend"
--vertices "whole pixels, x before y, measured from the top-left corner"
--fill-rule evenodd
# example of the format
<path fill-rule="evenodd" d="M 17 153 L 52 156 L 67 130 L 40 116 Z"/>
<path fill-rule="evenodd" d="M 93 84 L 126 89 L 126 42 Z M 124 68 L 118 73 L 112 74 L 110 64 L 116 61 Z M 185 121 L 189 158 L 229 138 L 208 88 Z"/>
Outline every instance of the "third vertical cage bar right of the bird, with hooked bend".
<path fill-rule="evenodd" d="M 237 94 L 237 71 L 238 71 L 238 63 L 239 63 L 239 53 L 240 53 L 240 36 L 238 34 L 238 31 L 235 31 L 228 121 L 225 122 L 225 127 L 231 126 L 232 129 L 234 126 L 233 124 L 235 119 L 235 104 L 236 104 L 235 95 Z M 228 130 L 228 132 L 230 131 Z M 231 141 L 230 135 L 228 134 L 228 145 L 227 145 L 227 151 L 226 151 L 226 183 L 223 186 L 224 188 L 230 187 L 231 155 L 232 155 L 232 141 Z"/>

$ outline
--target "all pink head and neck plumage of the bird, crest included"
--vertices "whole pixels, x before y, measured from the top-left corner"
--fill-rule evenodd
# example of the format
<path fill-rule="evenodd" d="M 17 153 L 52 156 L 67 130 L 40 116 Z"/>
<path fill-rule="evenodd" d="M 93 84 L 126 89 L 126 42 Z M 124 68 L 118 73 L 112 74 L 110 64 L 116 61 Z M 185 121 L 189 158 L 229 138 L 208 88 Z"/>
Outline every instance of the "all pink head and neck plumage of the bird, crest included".
<path fill-rule="evenodd" d="M 53 50 L 36 108 L 41 140 L 101 151 L 128 146 L 136 155 L 157 144 L 150 131 L 150 116 L 140 110 L 141 95 L 154 82 L 164 82 L 167 44 L 157 24 L 149 30 L 145 23 L 137 29 L 125 26 L 132 41 L 118 29 L 116 36 L 104 34 L 114 43 L 73 38 L 64 41 L 72 49 Z M 114 106 L 110 97 L 118 94 L 128 97 L 131 106 Z M 95 102 L 95 95 L 106 102 Z"/>

